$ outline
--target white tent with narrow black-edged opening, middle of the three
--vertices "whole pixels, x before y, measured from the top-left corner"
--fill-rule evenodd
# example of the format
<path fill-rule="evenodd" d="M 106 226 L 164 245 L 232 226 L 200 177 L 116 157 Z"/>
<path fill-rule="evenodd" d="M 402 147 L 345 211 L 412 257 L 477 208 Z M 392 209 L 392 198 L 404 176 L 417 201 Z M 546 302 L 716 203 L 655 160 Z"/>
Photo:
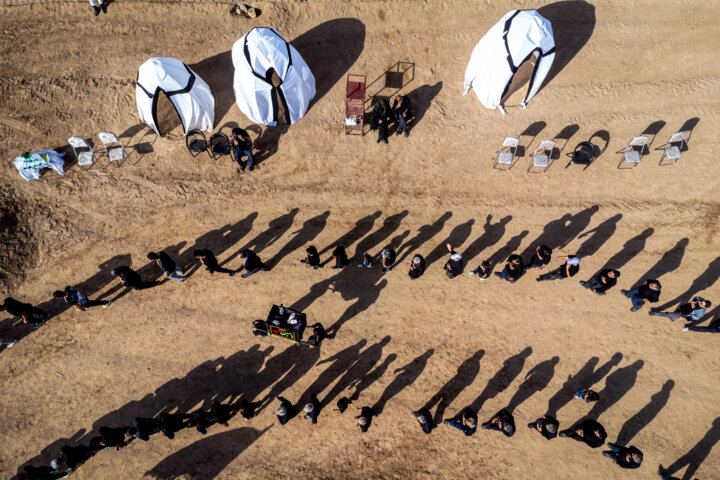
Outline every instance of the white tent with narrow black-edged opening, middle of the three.
<path fill-rule="evenodd" d="M 235 99 L 250 120 L 274 126 L 279 119 L 292 124 L 305 115 L 315 96 L 315 77 L 274 28 L 253 28 L 240 37 L 232 59 Z"/>

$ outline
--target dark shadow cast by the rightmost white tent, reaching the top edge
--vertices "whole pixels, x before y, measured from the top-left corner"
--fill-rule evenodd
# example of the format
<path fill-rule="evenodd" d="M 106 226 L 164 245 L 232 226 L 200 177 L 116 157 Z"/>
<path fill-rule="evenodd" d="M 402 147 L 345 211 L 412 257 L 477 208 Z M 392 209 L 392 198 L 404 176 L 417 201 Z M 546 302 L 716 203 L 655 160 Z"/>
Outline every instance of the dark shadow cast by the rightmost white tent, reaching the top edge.
<path fill-rule="evenodd" d="M 555 37 L 555 60 L 540 90 L 570 63 L 595 30 L 595 7 L 582 0 L 551 3 L 537 9 L 548 19 Z"/>

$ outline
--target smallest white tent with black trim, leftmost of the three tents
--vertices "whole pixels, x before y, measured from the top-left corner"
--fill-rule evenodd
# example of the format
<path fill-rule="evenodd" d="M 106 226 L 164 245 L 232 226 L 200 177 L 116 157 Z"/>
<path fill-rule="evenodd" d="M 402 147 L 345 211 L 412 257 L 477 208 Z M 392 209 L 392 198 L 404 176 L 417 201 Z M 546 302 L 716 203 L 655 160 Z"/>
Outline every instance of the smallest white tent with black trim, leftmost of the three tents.
<path fill-rule="evenodd" d="M 185 135 L 192 129 L 212 130 L 215 99 L 208 84 L 177 58 L 155 57 L 140 65 L 135 87 L 140 118 L 155 133 L 160 135 L 157 102 L 161 91 L 175 106 Z"/>

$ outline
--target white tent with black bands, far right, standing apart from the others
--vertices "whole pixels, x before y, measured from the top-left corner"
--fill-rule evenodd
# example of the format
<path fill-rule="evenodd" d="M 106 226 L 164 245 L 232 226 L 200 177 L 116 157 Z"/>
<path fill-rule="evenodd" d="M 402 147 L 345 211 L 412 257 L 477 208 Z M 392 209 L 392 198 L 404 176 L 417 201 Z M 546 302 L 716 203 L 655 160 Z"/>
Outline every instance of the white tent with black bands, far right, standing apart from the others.
<path fill-rule="evenodd" d="M 465 70 L 465 95 L 470 88 L 486 108 L 497 108 L 520 65 L 539 57 L 530 76 L 523 108 L 540 89 L 555 59 L 555 39 L 550 22 L 536 10 L 513 10 L 496 23 L 473 50 Z"/>

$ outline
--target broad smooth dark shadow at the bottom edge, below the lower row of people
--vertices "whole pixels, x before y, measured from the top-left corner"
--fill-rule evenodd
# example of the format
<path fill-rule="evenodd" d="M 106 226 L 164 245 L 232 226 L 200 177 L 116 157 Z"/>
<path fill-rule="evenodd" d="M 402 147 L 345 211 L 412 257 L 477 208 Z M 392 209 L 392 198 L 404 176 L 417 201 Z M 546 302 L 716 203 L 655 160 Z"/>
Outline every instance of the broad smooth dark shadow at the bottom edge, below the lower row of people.
<path fill-rule="evenodd" d="M 155 480 L 213 480 L 271 428 L 272 425 L 264 430 L 240 427 L 203 437 L 165 458 L 145 472 L 145 477 Z"/>

